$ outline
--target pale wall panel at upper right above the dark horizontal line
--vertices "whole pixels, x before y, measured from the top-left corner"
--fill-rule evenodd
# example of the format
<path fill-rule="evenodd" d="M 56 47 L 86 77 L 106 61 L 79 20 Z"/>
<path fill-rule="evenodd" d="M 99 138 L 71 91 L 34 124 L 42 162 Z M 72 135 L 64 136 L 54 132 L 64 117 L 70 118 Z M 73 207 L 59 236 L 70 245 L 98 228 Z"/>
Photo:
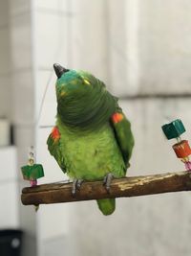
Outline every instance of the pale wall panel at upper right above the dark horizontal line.
<path fill-rule="evenodd" d="M 190 1 L 139 1 L 142 93 L 190 93 Z"/>

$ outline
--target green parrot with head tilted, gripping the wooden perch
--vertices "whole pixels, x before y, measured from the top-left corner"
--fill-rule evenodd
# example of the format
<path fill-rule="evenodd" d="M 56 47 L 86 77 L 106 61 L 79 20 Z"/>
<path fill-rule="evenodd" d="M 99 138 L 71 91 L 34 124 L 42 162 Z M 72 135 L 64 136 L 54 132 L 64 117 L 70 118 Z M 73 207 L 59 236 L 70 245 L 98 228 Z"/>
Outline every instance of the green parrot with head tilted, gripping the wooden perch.
<path fill-rule="evenodd" d="M 131 124 L 105 84 L 85 71 L 53 65 L 57 81 L 56 125 L 47 144 L 59 167 L 73 178 L 73 195 L 83 180 L 123 177 L 134 147 Z M 115 198 L 97 200 L 104 215 L 115 211 Z"/>

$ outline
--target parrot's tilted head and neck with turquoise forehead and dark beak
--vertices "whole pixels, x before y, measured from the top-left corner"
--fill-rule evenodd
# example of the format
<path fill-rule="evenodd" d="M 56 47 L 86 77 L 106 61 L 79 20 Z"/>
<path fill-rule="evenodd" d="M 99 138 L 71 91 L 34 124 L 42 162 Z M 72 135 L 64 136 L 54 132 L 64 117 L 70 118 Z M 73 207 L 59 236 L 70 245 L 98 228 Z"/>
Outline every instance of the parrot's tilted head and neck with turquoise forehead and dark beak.
<path fill-rule="evenodd" d="M 57 81 L 57 113 L 69 126 L 99 125 L 114 111 L 116 99 L 105 84 L 86 71 L 70 70 L 53 64 Z"/>

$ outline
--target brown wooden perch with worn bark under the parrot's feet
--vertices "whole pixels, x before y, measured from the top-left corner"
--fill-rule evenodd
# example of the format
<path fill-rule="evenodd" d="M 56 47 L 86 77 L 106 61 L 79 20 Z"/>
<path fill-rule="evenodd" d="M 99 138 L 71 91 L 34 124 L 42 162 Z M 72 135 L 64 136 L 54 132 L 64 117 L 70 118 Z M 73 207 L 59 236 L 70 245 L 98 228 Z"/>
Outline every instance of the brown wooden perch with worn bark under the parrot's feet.
<path fill-rule="evenodd" d="M 50 183 L 22 190 L 25 205 L 92 200 L 100 198 L 123 198 L 168 192 L 190 191 L 191 173 L 179 172 L 162 175 L 132 176 L 113 179 L 108 193 L 102 181 L 84 182 L 80 191 L 72 195 L 72 183 Z"/>

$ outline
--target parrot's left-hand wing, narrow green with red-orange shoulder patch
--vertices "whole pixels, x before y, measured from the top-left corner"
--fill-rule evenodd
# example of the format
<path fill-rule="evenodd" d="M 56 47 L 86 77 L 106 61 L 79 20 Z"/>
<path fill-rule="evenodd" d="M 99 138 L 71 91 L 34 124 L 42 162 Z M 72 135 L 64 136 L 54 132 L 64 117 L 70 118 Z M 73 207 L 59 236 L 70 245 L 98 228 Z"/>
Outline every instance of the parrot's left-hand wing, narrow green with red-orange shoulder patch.
<path fill-rule="evenodd" d="M 57 161 L 59 167 L 64 173 L 66 173 L 66 166 L 64 164 L 63 150 L 60 146 L 60 132 L 57 127 L 54 127 L 51 134 L 48 137 L 47 145 L 50 153 Z"/>

